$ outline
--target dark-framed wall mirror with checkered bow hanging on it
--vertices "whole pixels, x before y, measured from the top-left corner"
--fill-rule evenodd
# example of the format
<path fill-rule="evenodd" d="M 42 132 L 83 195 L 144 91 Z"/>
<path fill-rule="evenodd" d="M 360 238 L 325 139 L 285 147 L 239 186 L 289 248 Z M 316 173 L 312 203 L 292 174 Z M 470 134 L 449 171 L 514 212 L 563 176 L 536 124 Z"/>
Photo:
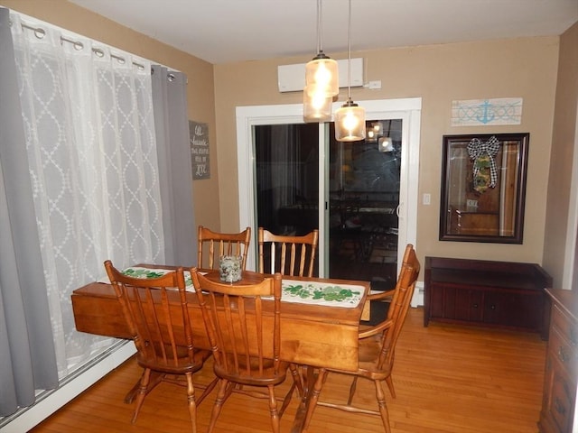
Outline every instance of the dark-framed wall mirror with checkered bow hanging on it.
<path fill-rule="evenodd" d="M 443 136 L 441 241 L 522 244 L 529 138 Z"/>

